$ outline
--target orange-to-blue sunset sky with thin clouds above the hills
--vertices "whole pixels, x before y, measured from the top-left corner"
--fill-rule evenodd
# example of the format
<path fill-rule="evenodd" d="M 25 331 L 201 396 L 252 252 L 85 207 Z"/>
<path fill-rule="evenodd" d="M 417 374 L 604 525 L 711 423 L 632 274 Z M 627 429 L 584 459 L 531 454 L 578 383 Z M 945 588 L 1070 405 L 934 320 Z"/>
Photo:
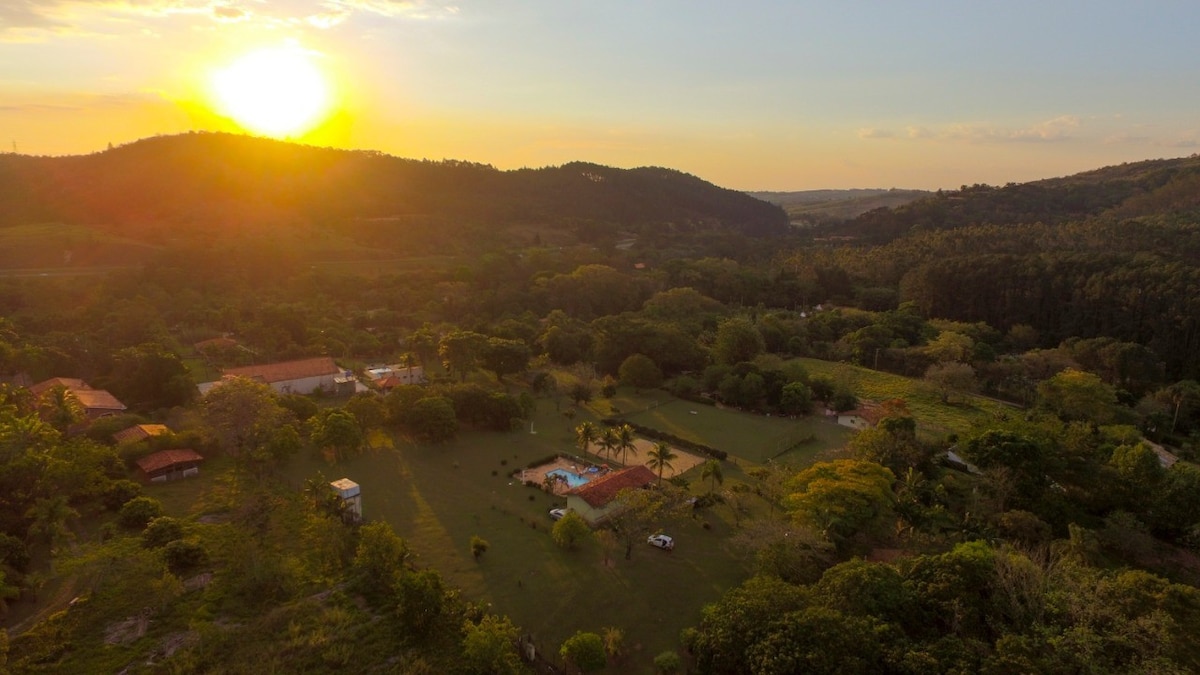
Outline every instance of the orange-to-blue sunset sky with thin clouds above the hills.
<path fill-rule="evenodd" d="M 958 187 L 1200 150 L 1200 2 L 0 0 L 0 149 L 236 131 L 212 77 L 302 53 L 295 137 L 742 190 Z"/>

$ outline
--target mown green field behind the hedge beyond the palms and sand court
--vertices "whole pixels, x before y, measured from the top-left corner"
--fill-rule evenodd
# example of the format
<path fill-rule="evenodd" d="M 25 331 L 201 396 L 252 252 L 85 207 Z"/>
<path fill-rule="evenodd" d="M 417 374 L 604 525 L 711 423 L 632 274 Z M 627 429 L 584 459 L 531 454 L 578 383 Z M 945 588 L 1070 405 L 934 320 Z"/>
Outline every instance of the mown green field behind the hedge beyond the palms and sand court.
<path fill-rule="evenodd" d="M 755 464 L 768 459 L 811 464 L 820 452 L 840 448 L 851 436 L 848 429 L 820 417 L 769 417 L 698 405 L 661 393 L 658 399 L 653 395 L 641 399 L 626 394 L 613 402 L 619 410 L 640 411 L 625 414 L 624 419 L 725 450 Z M 798 443 L 799 447 L 788 452 Z"/>

